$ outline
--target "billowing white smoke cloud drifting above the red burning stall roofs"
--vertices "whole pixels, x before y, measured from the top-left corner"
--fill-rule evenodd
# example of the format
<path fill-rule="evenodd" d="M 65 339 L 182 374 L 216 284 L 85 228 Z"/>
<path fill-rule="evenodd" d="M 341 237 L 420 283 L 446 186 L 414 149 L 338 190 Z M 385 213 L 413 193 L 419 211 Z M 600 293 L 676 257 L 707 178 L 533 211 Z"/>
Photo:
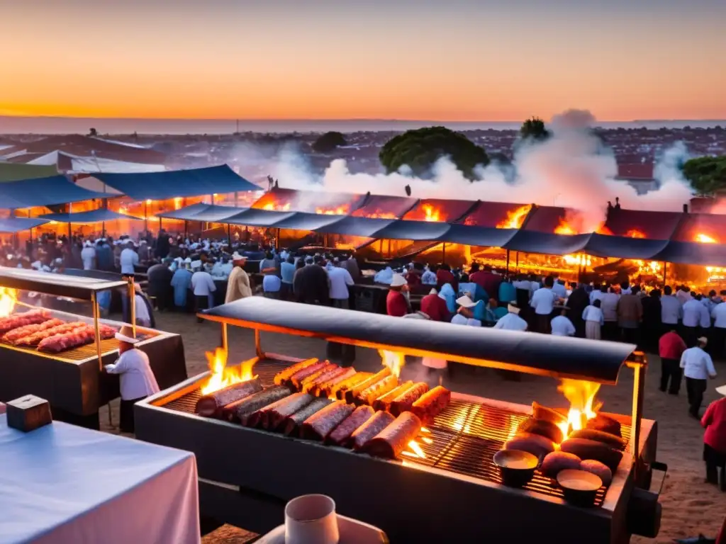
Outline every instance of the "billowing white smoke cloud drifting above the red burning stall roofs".
<path fill-rule="evenodd" d="M 319 176 L 294 147 L 283 148 L 274 160 L 266 157 L 265 162 L 272 177 L 280 181 L 280 187 L 317 191 L 311 197 L 317 205 L 332 202 L 333 195 L 340 192 L 405 196 L 408 185 L 412 197 L 417 198 L 481 199 L 571 208 L 576 213 L 568 221 L 580 232 L 597 229 L 605 221 L 607 202 L 614 204 L 616 197 L 622 207 L 633 210 L 682 210 L 693 194 L 678 168 L 685 157 L 682 144 L 665 152 L 656 165 L 658 189 L 639 195 L 627 182 L 616 180 L 616 158 L 592 132 L 594 123 L 595 117 L 586 110 L 556 115 L 550 122 L 550 139 L 521 142 L 511 167 L 490 164 L 478 168 L 478 180 L 473 182 L 446 157 L 436 162 L 426 179 L 412 177 L 406 170 L 390 174 L 351 173 L 346 160 L 341 159 L 330 162 Z M 298 203 L 302 207 L 309 204 Z"/>

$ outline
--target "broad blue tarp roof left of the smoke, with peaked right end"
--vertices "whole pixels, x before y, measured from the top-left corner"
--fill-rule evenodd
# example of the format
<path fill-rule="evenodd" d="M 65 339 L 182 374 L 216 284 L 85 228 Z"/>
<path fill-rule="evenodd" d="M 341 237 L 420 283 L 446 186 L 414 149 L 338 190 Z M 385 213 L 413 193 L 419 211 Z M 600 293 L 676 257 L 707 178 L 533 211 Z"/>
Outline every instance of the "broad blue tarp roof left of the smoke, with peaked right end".
<path fill-rule="evenodd" d="M 234 173 L 227 165 L 146 173 L 94 174 L 134 200 L 163 200 L 200 194 L 259 191 L 260 188 Z"/>

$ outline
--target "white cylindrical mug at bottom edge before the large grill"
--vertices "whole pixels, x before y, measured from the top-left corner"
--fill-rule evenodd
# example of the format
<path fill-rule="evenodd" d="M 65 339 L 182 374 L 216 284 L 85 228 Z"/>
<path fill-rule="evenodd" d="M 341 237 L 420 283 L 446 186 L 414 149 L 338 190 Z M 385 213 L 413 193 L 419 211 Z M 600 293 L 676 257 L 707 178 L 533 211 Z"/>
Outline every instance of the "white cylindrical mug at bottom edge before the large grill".
<path fill-rule="evenodd" d="M 338 544 L 335 501 L 327 495 L 302 495 L 285 506 L 285 544 Z"/>

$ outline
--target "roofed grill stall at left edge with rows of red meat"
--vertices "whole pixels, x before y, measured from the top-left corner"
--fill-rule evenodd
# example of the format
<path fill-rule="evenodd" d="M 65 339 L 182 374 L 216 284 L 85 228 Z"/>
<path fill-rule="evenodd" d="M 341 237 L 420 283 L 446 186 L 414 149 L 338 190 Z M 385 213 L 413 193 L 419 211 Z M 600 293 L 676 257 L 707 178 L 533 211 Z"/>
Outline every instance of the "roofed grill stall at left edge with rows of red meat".
<path fill-rule="evenodd" d="M 118 358 L 113 335 L 123 323 L 99 317 L 97 295 L 133 288 L 127 281 L 0 267 L 0 402 L 37 395 L 49 401 L 55 419 L 98 429 L 99 408 L 120 395 L 118 375 L 102 368 Z M 75 301 L 78 313 L 50 309 L 57 297 Z M 178 334 L 141 327 L 136 334 L 159 387 L 187 379 Z"/>

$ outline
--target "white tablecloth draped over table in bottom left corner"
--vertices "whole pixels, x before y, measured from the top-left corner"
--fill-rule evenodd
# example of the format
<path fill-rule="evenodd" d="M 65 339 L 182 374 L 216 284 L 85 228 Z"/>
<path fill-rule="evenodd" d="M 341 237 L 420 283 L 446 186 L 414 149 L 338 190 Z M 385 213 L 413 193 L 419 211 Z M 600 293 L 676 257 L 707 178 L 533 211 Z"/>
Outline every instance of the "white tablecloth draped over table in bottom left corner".
<path fill-rule="evenodd" d="M 0 416 L 0 544 L 197 544 L 192 453 Z"/>

